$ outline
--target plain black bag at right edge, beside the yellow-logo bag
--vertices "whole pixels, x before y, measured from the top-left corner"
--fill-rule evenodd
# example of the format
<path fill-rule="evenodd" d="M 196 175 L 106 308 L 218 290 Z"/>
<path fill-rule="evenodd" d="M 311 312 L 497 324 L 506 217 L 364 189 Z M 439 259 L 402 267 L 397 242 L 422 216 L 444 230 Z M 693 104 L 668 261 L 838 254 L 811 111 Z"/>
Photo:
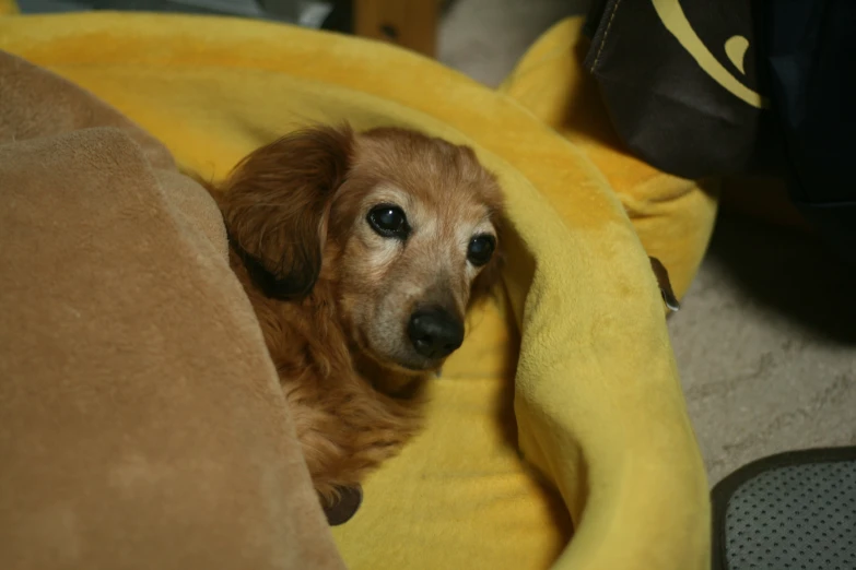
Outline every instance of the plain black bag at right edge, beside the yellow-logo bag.
<path fill-rule="evenodd" d="M 765 3 L 763 61 L 791 199 L 856 261 L 856 1 Z"/>

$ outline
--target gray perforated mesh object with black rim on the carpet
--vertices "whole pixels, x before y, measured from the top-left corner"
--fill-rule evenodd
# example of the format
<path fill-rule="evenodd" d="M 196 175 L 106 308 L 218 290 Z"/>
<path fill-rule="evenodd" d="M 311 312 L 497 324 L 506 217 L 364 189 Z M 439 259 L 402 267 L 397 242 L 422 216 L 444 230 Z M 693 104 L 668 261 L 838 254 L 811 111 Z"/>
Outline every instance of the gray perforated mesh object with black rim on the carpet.
<path fill-rule="evenodd" d="M 751 463 L 713 506 L 715 570 L 856 570 L 856 448 Z"/>

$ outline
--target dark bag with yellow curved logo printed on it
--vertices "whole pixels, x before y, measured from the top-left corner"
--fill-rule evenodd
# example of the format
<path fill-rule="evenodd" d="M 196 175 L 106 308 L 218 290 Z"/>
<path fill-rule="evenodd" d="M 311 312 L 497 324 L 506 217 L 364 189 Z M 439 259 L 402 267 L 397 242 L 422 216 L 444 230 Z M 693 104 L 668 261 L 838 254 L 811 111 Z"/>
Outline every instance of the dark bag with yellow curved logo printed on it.
<path fill-rule="evenodd" d="M 631 152 L 684 178 L 746 171 L 769 100 L 747 0 L 595 0 L 585 66 Z"/>

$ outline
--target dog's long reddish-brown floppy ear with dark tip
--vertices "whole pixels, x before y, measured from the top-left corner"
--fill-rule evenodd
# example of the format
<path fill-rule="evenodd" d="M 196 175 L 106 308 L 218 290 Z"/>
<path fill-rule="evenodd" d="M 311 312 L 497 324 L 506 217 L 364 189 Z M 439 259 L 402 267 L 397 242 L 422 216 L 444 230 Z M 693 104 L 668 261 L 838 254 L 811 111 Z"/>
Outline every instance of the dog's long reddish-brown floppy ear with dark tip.
<path fill-rule="evenodd" d="M 352 147 L 347 126 L 307 128 L 255 151 L 227 180 L 219 202 L 230 242 L 269 297 L 312 292 Z"/>

